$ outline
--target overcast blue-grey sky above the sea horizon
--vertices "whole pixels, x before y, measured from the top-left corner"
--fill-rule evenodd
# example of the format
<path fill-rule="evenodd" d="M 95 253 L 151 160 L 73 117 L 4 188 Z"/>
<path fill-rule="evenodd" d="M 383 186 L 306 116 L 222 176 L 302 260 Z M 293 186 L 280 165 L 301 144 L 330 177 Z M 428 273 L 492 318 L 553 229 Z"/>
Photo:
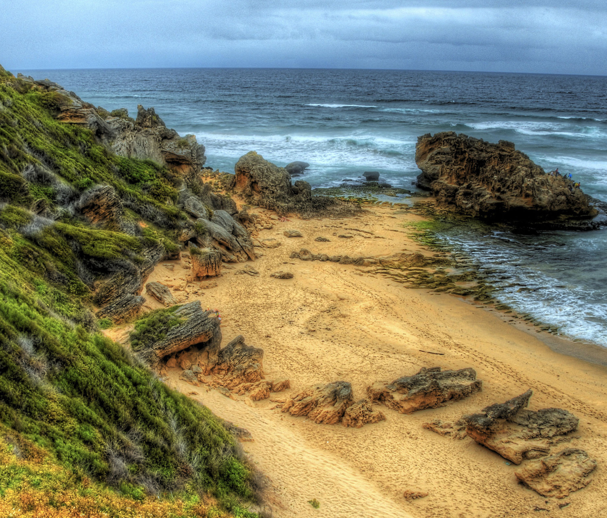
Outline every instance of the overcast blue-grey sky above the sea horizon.
<path fill-rule="evenodd" d="M 607 1 L 11 0 L 0 64 L 607 75 Z"/>

